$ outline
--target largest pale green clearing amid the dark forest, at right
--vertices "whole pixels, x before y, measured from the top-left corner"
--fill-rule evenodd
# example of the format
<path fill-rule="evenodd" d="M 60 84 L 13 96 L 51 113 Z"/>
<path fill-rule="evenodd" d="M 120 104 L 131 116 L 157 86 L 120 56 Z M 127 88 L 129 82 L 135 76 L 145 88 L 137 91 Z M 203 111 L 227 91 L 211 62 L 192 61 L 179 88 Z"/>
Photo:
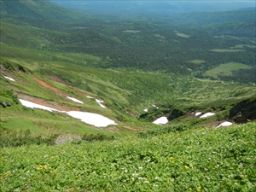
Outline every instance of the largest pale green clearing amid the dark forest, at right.
<path fill-rule="evenodd" d="M 252 69 L 252 68 L 253 67 L 244 65 L 242 63 L 230 62 L 230 63 L 221 64 L 218 67 L 214 67 L 206 71 L 206 73 L 204 73 L 204 76 L 218 79 L 219 75 L 229 76 L 229 75 L 232 75 L 232 72 L 234 71 L 238 71 L 240 69 Z"/>

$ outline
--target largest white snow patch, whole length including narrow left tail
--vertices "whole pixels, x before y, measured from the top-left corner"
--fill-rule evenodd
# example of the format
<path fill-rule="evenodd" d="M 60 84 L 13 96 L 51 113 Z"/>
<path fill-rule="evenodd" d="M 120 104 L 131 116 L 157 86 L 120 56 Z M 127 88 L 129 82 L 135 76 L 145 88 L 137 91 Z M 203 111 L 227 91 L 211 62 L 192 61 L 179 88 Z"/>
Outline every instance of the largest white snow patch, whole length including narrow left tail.
<path fill-rule="evenodd" d="M 76 119 L 81 119 L 84 123 L 90 124 L 90 125 L 95 125 L 97 127 L 106 127 L 108 125 L 117 125 L 113 120 L 108 119 L 101 114 L 97 113 L 88 113 L 88 112 L 79 112 L 79 111 L 59 111 L 56 110 L 55 108 L 48 108 L 43 105 L 38 105 L 37 103 L 34 102 L 28 102 L 22 99 L 19 99 L 21 104 L 26 106 L 27 108 L 39 108 L 43 110 L 47 110 L 49 112 L 53 111 L 58 111 L 61 113 L 67 113 L 68 115 L 72 116 L 73 118 Z"/>

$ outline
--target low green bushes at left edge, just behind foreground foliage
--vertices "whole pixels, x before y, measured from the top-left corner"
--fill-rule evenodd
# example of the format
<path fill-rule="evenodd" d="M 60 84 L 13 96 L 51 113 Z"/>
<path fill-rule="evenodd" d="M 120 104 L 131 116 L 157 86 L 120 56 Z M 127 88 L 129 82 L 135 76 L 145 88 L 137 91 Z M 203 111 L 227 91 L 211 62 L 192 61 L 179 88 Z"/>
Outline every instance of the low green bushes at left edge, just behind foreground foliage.
<path fill-rule="evenodd" d="M 0 128 L 0 147 L 20 147 L 22 145 L 47 144 L 55 145 L 55 139 L 59 135 L 55 134 L 49 137 L 34 137 L 31 131 L 13 131 L 6 128 Z"/>

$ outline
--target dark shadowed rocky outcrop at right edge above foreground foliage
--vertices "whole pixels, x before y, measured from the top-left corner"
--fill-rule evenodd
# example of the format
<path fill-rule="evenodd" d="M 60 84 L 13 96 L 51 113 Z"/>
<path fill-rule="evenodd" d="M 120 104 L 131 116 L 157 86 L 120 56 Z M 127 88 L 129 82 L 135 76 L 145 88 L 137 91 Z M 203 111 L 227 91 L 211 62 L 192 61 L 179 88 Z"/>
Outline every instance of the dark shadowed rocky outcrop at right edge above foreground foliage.
<path fill-rule="evenodd" d="M 230 119 L 236 123 L 246 123 L 256 119 L 256 98 L 238 102 L 230 108 Z"/>

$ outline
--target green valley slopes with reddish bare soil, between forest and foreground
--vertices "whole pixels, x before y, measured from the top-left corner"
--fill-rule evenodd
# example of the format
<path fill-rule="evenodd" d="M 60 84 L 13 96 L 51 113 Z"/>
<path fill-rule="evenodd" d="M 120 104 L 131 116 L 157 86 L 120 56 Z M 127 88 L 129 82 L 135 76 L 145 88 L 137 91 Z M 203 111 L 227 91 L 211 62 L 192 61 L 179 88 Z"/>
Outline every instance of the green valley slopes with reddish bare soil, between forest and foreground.
<path fill-rule="evenodd" d="M 253 85 L 202 81 L 174 74 L 106 70 L 60 61 L 14 58 L 2 60 L 1 63 L 3 75 L 15 79 L 13 82 L 1 76 L 3 89 L 0 102 L 10 102 L 12 105 L 10 108 L 2 108 L 1 125 L 12 130 L 29 129 L 36 135 L 62 133 L 80 136 L 84 132 L 94 132 L 95 128 L 64 114 L 23 108 L 17 97 L 61 110 L 66 108 L 65 110 L 101 113 L 119 124 L 103 130 L 124 132 L 154 127 L 150 122 L 159 116 L 168 116 L 172 108 L 181 108 L 188 114 L 196 110 L 217 111 L 219 115 L 207 121 L 208 124 L 215 122 L 212 126 L 216 126 L 220 120 L 228 119 L 227 110 L 232 105 L 255 96 Z M 67 96 L 77 98 L 84 104 L 74 103 Z M 101 108 L 86 96 L 103 100 L 107 109 Z M 153 104 L 159 108 L 154 108 Z M 148 108 L 149 116 L 138 121 L 145 113 L 145 108 Z M 22 123 L 19 123 L 20 119 Z M 192 120 L 193 125 L 206 125 L 206 121 L 197 122 L 195 117 L 180 120 Z M 172 123 L 177 124 L 177 121 L 170 124 Z M 95 133 L 103 130 L 96 130 Z M 105 131 L 103 132 L 106 133 Z"/>

